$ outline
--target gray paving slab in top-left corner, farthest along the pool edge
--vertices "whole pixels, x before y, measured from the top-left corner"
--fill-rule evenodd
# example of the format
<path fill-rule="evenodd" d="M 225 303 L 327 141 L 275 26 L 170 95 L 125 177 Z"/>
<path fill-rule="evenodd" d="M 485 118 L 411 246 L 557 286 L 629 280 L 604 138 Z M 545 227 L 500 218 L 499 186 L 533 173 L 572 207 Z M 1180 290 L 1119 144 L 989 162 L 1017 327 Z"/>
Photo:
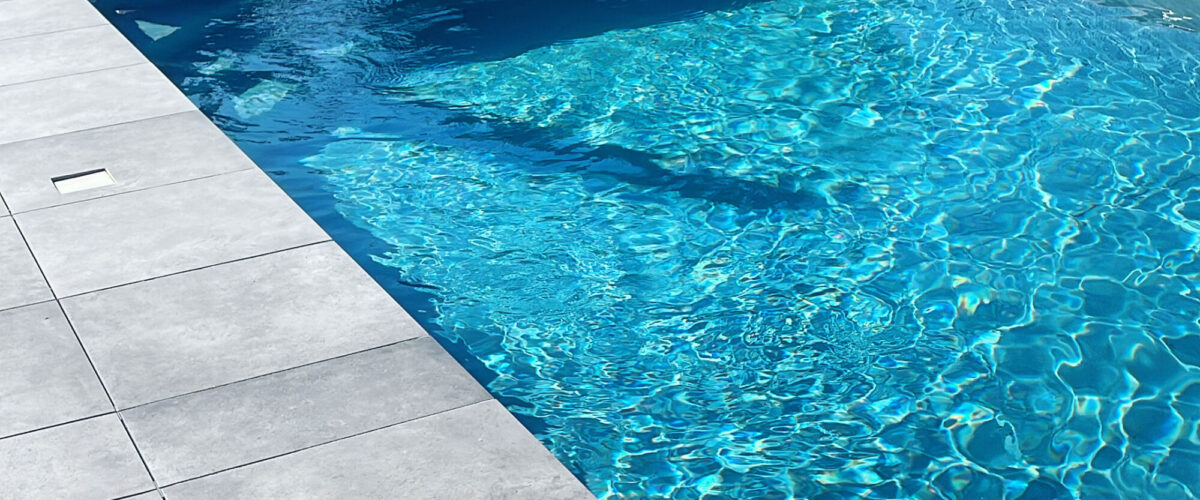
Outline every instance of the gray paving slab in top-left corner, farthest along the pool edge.
<path fill-rule="evenodd" d="M 108 24 L 88 0 L 0 2 L 0 40 Z"/>

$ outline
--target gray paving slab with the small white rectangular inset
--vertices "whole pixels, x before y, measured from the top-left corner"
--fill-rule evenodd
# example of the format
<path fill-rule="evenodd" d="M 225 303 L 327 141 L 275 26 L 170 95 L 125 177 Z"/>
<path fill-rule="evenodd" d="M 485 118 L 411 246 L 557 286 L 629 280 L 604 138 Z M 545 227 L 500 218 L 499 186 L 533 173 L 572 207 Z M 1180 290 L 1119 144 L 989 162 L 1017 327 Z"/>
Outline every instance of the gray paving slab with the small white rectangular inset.
<path fill-rule="evenodd" d="M 116 183 L 61 194 L 50 181 L 96 169 Z M 257 165 L 200 112 L 0 145 L 0 192 L 14 212 L 250 169 Z"/>

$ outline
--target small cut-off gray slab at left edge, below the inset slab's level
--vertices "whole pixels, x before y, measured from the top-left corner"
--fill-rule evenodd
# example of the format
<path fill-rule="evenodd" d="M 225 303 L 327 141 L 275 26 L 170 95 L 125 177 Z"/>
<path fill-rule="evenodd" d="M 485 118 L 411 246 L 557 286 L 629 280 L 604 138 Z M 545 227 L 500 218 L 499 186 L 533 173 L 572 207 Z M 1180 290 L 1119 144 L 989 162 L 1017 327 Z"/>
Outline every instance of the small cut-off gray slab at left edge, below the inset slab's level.
<path fill-rule="evenodd" d="M 0 217 L 0 311 L 54 299 L 12 217 Z"/>

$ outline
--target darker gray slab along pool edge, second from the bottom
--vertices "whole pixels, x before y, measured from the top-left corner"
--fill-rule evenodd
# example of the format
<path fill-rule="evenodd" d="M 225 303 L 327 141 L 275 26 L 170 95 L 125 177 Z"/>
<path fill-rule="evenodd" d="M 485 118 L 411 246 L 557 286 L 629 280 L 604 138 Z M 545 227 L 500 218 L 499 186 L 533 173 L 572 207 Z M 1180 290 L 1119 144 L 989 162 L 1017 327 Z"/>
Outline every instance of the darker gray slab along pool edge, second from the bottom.
<path fill-rule="evenodd" d="M 422 337 L 122 415 L 155 478 L 172 484 L 488 398 Z"/>

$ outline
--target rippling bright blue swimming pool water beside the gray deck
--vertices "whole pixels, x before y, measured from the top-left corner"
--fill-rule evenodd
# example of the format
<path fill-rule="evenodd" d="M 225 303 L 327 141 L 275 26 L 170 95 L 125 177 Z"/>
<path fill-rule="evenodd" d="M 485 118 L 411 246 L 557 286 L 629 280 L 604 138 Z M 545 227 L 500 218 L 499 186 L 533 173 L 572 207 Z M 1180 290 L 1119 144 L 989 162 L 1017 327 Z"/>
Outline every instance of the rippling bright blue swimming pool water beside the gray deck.
<path fill-rule="evenodd" d="M 97 0 L 598 496 L 1200 495 L 1188 2 L 175 4 Z"/>

